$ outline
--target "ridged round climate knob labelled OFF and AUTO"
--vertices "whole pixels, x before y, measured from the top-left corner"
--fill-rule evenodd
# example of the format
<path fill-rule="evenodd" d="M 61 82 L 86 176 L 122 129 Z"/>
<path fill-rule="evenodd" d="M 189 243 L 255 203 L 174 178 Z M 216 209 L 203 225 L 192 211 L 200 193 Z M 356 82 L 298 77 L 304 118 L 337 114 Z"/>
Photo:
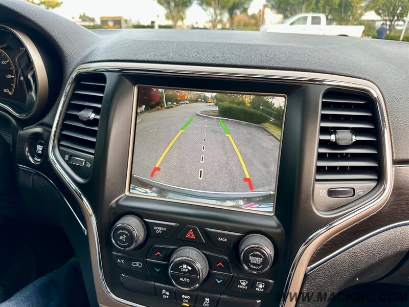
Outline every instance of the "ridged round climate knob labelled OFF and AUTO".
<path fill-rule="evenodd" d="M 169 277 L 180 289 L 196 289 L 208 272 L 208 260 L 201 251 L 193 247 L 178 248 L 170 258 Z"/>

